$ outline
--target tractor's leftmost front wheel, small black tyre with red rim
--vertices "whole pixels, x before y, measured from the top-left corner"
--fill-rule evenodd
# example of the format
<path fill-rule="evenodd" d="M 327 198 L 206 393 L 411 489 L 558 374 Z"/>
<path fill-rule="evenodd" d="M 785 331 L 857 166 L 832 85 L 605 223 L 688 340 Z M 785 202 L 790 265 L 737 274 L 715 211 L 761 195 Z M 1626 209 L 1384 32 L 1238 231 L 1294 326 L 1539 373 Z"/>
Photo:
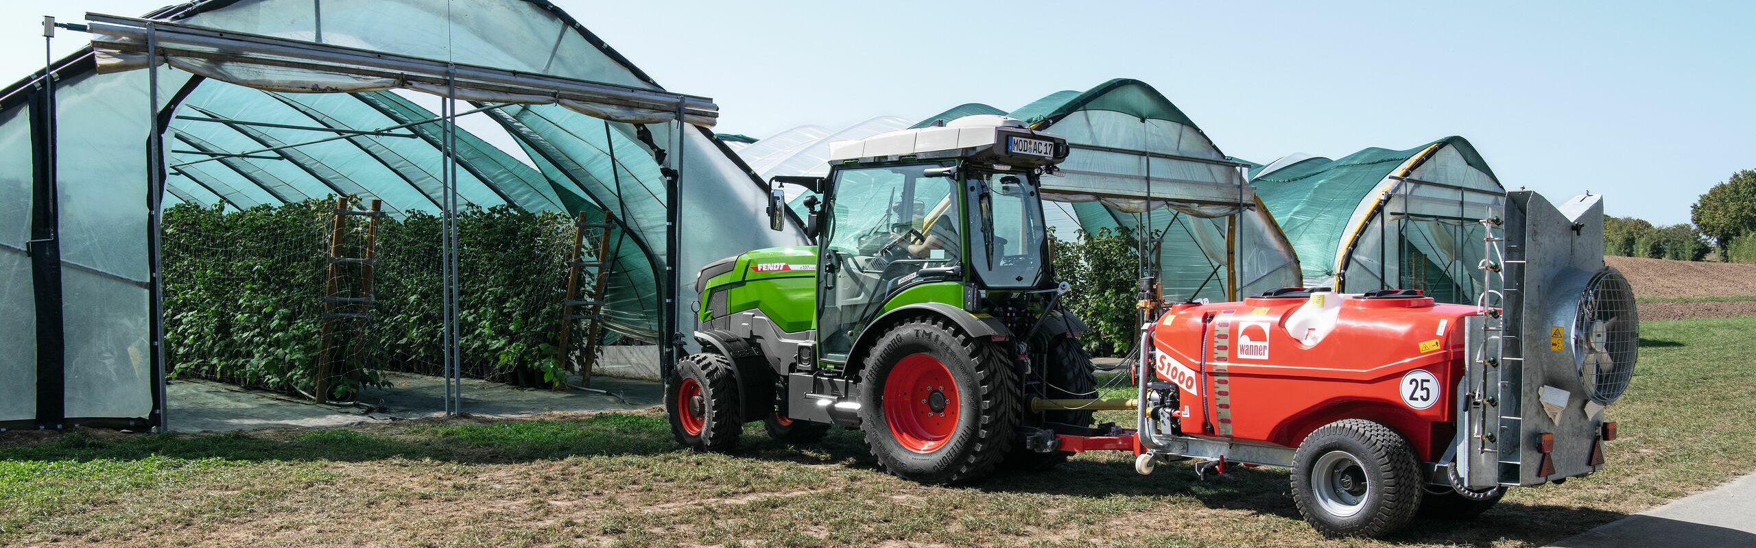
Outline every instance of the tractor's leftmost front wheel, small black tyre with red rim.
<path fill-rule="evenodd" d="M 745 430 L 732 362 L 716 353 L 676 362 L 664 409 L 671 418 L 671 436 L 690 450 L 727 453 L 738 448 L 738 436 Z"/>

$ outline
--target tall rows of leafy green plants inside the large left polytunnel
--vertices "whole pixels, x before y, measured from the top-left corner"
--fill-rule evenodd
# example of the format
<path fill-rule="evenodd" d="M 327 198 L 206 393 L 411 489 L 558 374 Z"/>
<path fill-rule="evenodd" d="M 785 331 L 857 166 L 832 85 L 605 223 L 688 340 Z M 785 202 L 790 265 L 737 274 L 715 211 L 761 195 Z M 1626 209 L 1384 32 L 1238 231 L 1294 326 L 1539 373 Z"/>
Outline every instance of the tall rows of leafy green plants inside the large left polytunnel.
<path fill-rule="evenodd" d="M 174 374 L 311 395 L 321 351 L 334 200 L 221 213 L 165 211 L 165 339 Z M 369 221 L 344 216 L 341 256 L 363 256 Z M 458 213 L 462 372 L 558 385 L 557 358 L 572 223 L 558 213 Z M 371 320 L 332 325 L 330 397 L 381 383 L 379 371 L 441 374 L 441 220 L 379 218 Z M 363 265 L 339 267 L 337 295 L 363 297 Z M 590 286 L 590 276 L 581 286 Z M 337 313 L 358 313 L 339 304 Z M 363 330 L 363 334 L 362 334 Z M 581 335 L 574 341 L 583 339 Z"/>

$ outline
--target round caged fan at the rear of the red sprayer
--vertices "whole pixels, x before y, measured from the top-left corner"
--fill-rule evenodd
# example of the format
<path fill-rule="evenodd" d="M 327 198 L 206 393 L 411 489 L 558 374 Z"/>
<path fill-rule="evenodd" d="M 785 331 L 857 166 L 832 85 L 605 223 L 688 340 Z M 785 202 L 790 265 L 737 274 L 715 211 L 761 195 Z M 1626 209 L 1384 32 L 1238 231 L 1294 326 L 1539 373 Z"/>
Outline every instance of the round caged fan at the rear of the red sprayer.
<path fill-rule="evenodd" d="M 1608 406 L 1635 374 L 1640 316 L 1635 292 L 1616 269 L 1598 270 L 1579 295 L 1573 351 L 1593 402 Z"/>

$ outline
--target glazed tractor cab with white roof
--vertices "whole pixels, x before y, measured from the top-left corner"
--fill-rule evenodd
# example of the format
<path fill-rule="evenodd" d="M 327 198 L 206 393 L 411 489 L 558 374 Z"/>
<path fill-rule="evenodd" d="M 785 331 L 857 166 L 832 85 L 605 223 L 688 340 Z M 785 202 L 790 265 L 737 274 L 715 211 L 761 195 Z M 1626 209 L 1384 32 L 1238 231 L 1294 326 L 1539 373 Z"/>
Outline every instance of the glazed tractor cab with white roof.
<path fill-rule="evenodd" d="M 1054 286 L 1040 176 L 1068 141 L 1004 116 L 966 116 L 831 146 L 808 232 L 818 241 L 818 344 L 845 365 L 866 327 L 910 304 L 983 313 L 987 292 Z M 778 213 L 778 209 L 776 209 Z"/>

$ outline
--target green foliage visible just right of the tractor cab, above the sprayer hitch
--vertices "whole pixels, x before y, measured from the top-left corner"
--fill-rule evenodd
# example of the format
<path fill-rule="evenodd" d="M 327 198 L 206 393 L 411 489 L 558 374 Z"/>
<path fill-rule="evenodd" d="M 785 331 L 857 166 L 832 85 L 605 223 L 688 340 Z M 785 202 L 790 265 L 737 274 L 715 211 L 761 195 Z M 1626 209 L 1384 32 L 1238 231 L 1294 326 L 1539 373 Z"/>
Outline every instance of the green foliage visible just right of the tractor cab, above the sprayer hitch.
<path fill-rule="evenodd" d="M 1054 237 L 1054 234 L 1050 234 Z M 1134 309 L 1140 279 L 1138 239 L 1131 228 L 1080 230 L 1078 241 L 1054 241 L 1055 278 L 1073 285 L 1064 295 L 1068 309 L 1085 320 L 1085 348 L 1092 355 L 1115 355 L 1134 344 L 1140 311 Z"/>

